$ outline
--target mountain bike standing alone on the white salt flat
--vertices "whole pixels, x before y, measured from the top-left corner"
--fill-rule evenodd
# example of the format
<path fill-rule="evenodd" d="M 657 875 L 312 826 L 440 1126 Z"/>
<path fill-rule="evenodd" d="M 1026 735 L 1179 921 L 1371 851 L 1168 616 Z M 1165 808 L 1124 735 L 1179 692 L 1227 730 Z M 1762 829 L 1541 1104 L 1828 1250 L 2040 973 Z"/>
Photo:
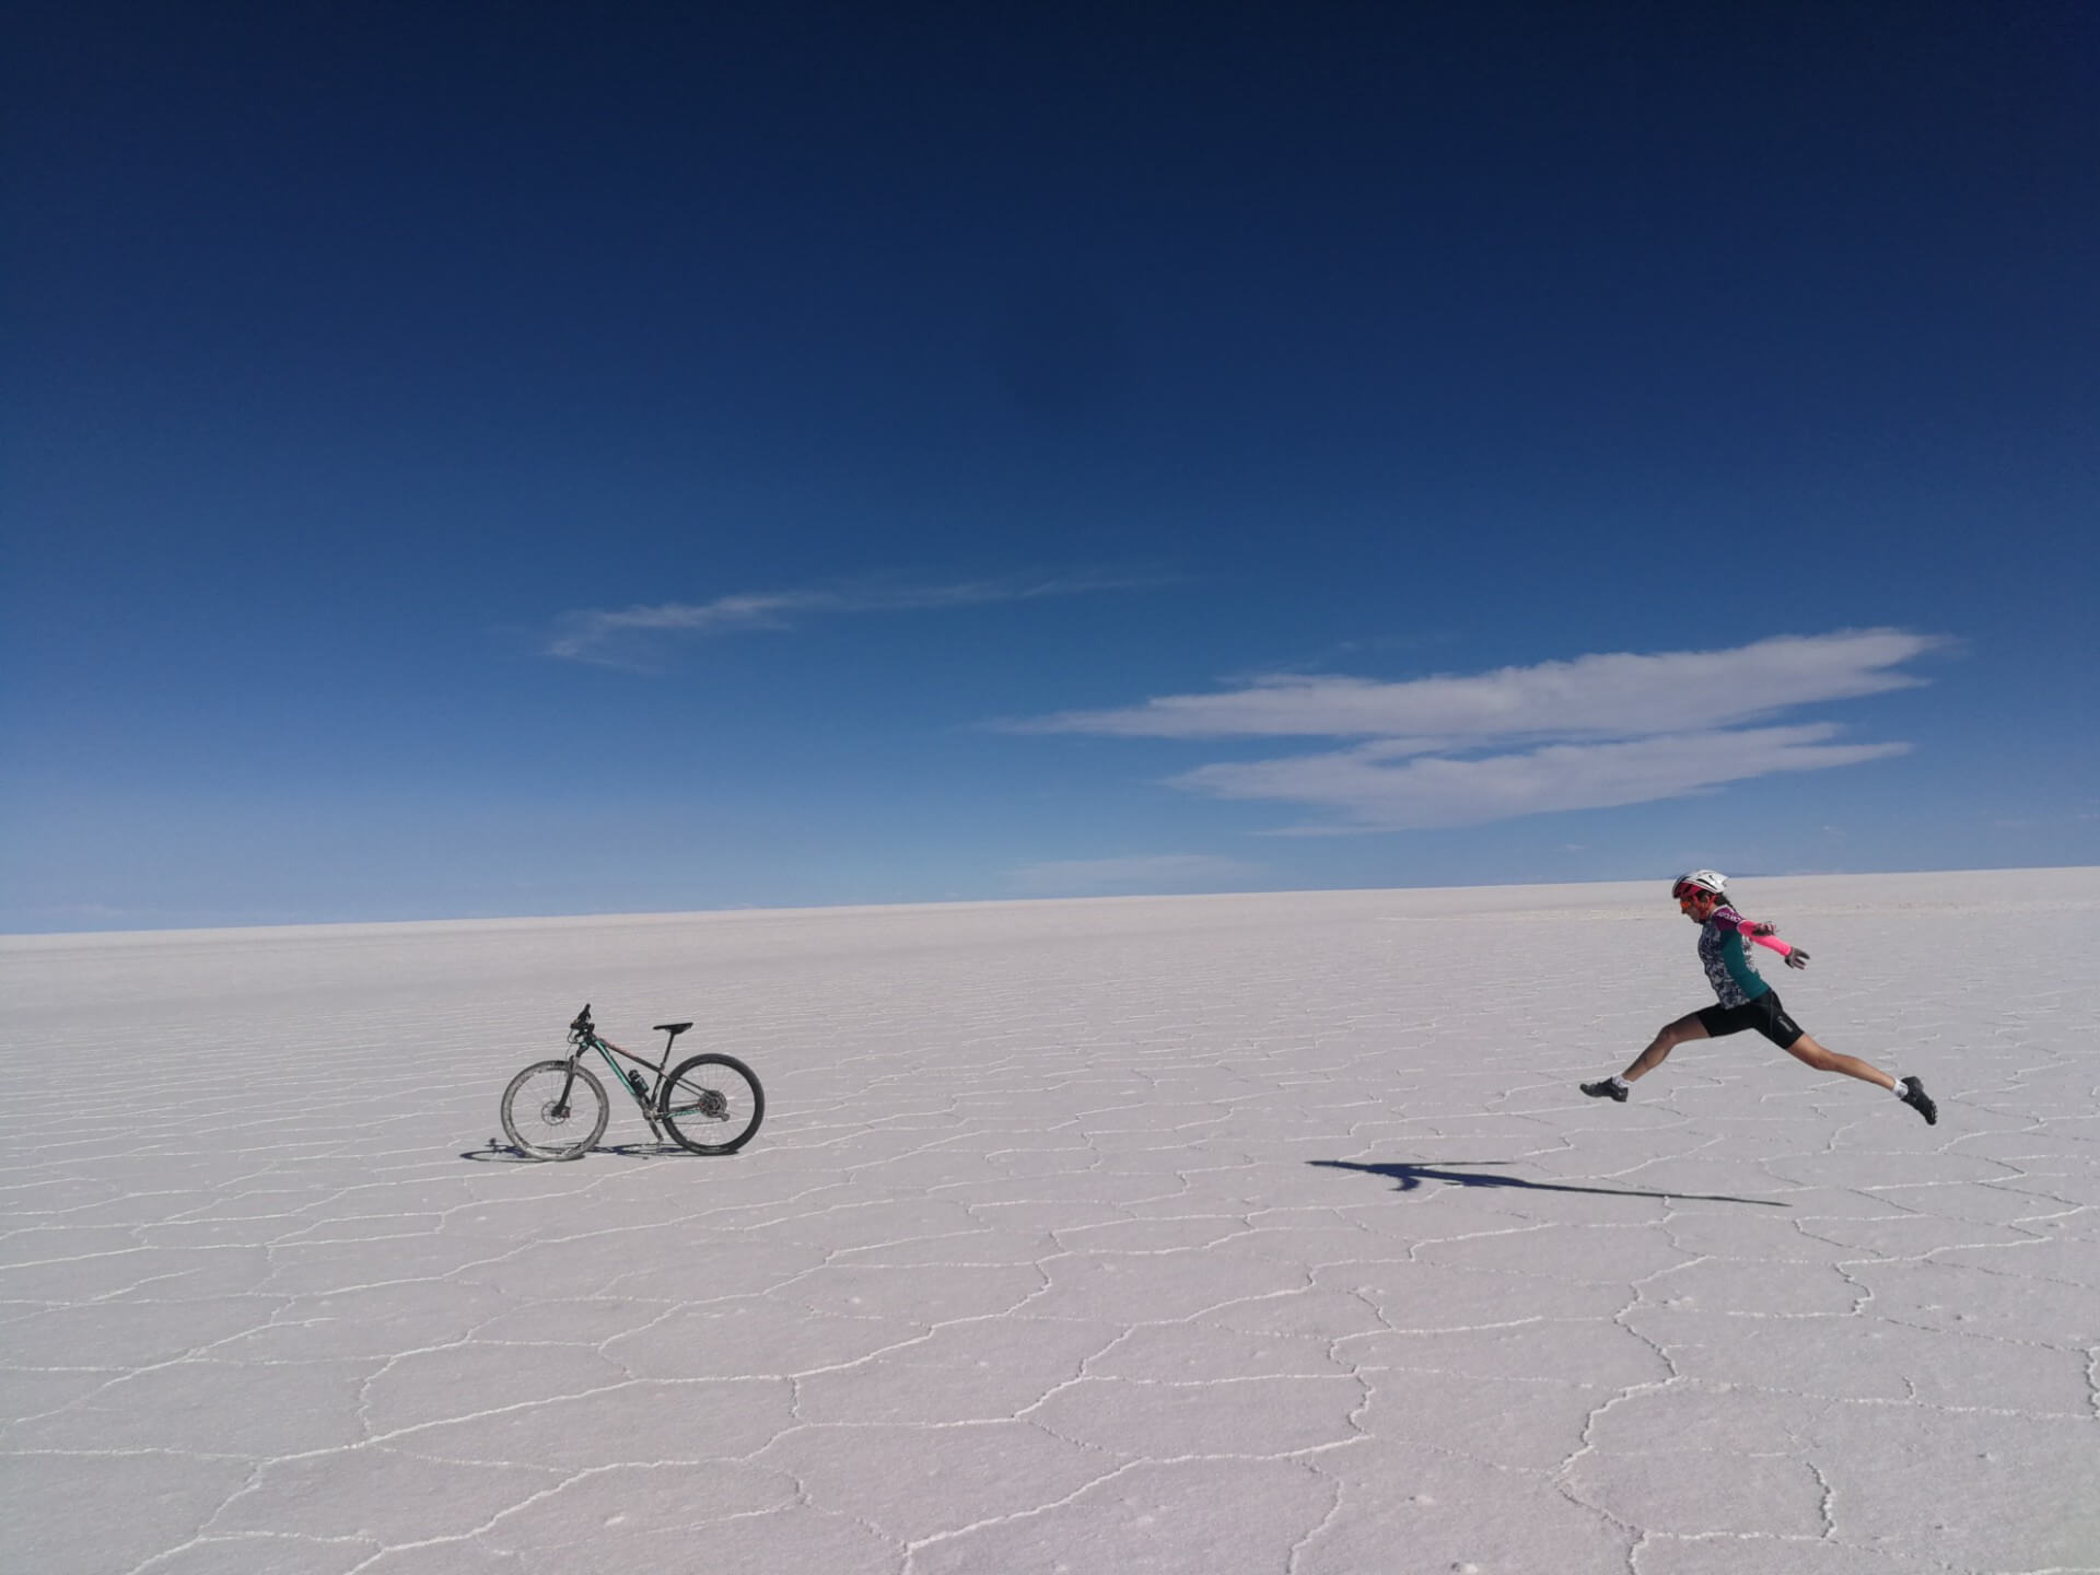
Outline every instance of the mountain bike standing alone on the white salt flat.
<path fill-rule="evenodd" d="M 536 1060 L 510 1079 L 504 1090 L 504 1132 L 521 1153 L 533 1159 L 582 1159 L 605 1136 L 613 1113 L 598 1073 L 584 1065 L 596 1050 L 628 1098 L 640 1109 L 649 1130 L 662 1142 L 666 1134 L 693 1153 L 735 1153 L 758 1130 L 766 1113 L 766 1092 L 758 1077 L 735 1056 L 699 1054 L 680 1060 L 666 1073 L 670 1050 L 691 1023 L 657 1023 L 664 1040 L 662 1060 L 643 1060 L 603 1037 L 590 1021 L 586 1004 L 569 1025 L 569 1054 L 563 1060 Z M 626 1069 L 632 1060 L 643 1071 Z"/>

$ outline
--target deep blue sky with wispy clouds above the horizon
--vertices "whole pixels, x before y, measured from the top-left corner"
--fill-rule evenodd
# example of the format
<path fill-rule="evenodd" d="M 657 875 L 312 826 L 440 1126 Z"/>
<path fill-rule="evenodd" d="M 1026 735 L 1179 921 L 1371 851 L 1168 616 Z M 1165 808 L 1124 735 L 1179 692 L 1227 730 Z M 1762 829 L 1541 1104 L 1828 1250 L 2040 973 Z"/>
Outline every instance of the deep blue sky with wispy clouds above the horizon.
<path fill-rule="evenodd" d="M 2100 863 L 2100 15 L 38 4 L 0 930 Z"/>

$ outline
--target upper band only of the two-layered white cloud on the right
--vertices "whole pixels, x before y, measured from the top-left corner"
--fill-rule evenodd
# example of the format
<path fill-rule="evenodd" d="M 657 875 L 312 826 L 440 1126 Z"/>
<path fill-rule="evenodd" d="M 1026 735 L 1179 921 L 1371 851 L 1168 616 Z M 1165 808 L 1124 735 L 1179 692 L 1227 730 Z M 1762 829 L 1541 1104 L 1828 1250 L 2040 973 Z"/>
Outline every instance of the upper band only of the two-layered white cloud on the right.
<path fill-rule="evenodd" d="M 1945 640 L 1905 630 L 1785 634 L 1730 651 L 1586 655 L 1403 682 L 1279 674 L 1218 695 L 1012 722 L 1023 733 L 1121 737 L 1376 737 L 1392 754 L 1520 737 L 1634 737 L 1730 727 L 1791 706 L 1909 689 L 1894 668 Z"/>

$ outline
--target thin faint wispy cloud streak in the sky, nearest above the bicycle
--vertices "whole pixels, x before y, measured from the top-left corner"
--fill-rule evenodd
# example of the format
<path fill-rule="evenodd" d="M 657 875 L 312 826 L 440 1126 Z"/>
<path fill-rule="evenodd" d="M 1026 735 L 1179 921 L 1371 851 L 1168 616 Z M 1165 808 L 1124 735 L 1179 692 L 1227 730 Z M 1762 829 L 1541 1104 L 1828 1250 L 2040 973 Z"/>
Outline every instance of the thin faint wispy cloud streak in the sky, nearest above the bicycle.
<path fill-rule="evenodd" d="M 983 607 L 989 603 L 1084 596 L 1100 590 L 1134 590 L 1161 580 L 1063 575 L 1044 580 L 964 580 L 953 584 L 872 586 L 848 584 L 815 590 L 756 590 L 704 603 L 657 603 L 653 607 L 584 607 L 563 613 L 546 645 L 548 655 L 601 666 L 634 666 L 638 643 L 651 636 L 724 636 L 794 630 L 811 617 L 838 613 L 909 613 L 937 607 Z"/>

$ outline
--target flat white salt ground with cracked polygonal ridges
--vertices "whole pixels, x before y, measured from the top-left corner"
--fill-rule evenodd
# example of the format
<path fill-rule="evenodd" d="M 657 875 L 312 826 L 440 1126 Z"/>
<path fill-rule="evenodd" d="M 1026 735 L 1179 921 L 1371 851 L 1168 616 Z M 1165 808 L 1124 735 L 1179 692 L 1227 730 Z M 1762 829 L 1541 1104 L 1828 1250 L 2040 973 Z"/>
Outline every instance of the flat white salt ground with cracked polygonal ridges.
<path fill-rule="evenodd" d="M 0 941 L 36 1575 L 2100 1569 L 2100 872 Z M 1871 899 L 1871 901 L 1869 901 Z M 762 1075 L 491 1144 L 590 1000 Z"/>

